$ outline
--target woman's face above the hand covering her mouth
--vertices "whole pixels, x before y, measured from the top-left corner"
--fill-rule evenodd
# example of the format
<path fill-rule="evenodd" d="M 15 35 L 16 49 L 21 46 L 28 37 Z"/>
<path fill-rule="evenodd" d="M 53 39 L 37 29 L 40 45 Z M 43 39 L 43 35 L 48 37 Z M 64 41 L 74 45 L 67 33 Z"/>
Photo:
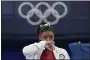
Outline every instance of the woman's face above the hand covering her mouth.
<path fill-rule="evenodd" d="M 53 41 L 54 34 L 52 31 L 45 31 L 39 34 L 39 40 Z"/>

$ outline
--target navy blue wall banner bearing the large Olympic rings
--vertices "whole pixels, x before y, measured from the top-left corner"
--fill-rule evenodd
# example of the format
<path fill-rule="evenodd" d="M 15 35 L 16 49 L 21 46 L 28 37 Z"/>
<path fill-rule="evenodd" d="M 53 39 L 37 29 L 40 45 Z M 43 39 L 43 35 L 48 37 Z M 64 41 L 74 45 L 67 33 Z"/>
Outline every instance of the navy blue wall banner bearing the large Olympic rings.
<path fill-rule="evenodd" d="M 2 33 L 35 35 L 37 25 L 50 22 L 56 34 L 87 34 L 88 2 L 2 1 Z"/>

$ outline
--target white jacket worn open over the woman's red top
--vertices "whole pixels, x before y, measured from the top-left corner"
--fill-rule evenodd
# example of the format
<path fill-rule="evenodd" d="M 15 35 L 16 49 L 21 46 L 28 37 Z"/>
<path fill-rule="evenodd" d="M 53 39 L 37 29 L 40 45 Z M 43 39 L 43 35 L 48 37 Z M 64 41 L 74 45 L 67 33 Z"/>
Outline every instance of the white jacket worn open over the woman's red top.
<path fill-rule="evenodd" d="M 40 56 L 45 49 L 46 41 L 40 41 L 39 43 L 30 44 L 23 48 L 23 54 L 26 59 L 40 59 Z M 56 59 L 70 59 L 67 51 L 62 48 L 55 47 L 53 50 Z"/>

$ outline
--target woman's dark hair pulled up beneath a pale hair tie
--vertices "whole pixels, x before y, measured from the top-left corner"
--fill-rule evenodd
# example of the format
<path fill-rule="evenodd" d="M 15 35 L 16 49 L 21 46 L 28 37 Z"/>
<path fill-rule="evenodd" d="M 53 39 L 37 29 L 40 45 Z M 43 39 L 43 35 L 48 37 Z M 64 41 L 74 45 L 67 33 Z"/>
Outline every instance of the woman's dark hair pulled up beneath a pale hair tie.
<path fill-rule="evenodd" d="M 42 22 L 40 25 L 45 25 L 46 23 Z M 42 32 L 45 32 L 45 31 L 52 31 L 53 32 L 53 29 L 51 28 L 51 26 L 38 26 L 38 29 L 37 29 L 37 34 L 39 35 L 40 33 Z"/>

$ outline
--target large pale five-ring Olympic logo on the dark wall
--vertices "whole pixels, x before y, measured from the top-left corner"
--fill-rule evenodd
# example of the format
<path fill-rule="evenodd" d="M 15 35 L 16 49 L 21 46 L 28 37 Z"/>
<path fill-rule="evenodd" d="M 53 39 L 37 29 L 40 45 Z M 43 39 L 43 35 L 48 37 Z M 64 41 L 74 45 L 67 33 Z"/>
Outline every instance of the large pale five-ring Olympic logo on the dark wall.
<path fill-rule="evenodd" d="M 24 15 L 22 13 L 22 7 L 28 5 L 30 6 L 30 10 L 27 12 L 26 15 Z M 47 9 L 44 11 L 44 13 L 39 9 L 39 7 L 41 5 L 44 5 L 47 7 Z M 61 5 L 64 7 L 64 12 L 60 15 L 59 12 L 55 9 L 57 5 Z M 47 2 L 39 2 L 37 3 L 35 6 L 31 3 L 31 2 L 23 2 L 20 4 L 19 8 L 18 8 L 18 13 L 22 18 L 25 18 L 29 24 L 32 25 L 38 25 L 42 22 L 42 20 L 44 22 L 48 22 L 48 20 L 46 19 L 50 14 L 52 14 L 56 20 L 54 20 L 53 22 L 50 22 L 50 25 L 55 25 L 59 22 L 59 19 L 63 18 L 66 16 L 68 12 L 67 6 L 65 5 L 65 3 L 63 2 L 55 2 L 54 4 L 52 4 L 52 6 L 50 6 Z M 40 19 L 37 22 L 33 22 L 30 20 L 30 18 L 36 14 Z"/>

